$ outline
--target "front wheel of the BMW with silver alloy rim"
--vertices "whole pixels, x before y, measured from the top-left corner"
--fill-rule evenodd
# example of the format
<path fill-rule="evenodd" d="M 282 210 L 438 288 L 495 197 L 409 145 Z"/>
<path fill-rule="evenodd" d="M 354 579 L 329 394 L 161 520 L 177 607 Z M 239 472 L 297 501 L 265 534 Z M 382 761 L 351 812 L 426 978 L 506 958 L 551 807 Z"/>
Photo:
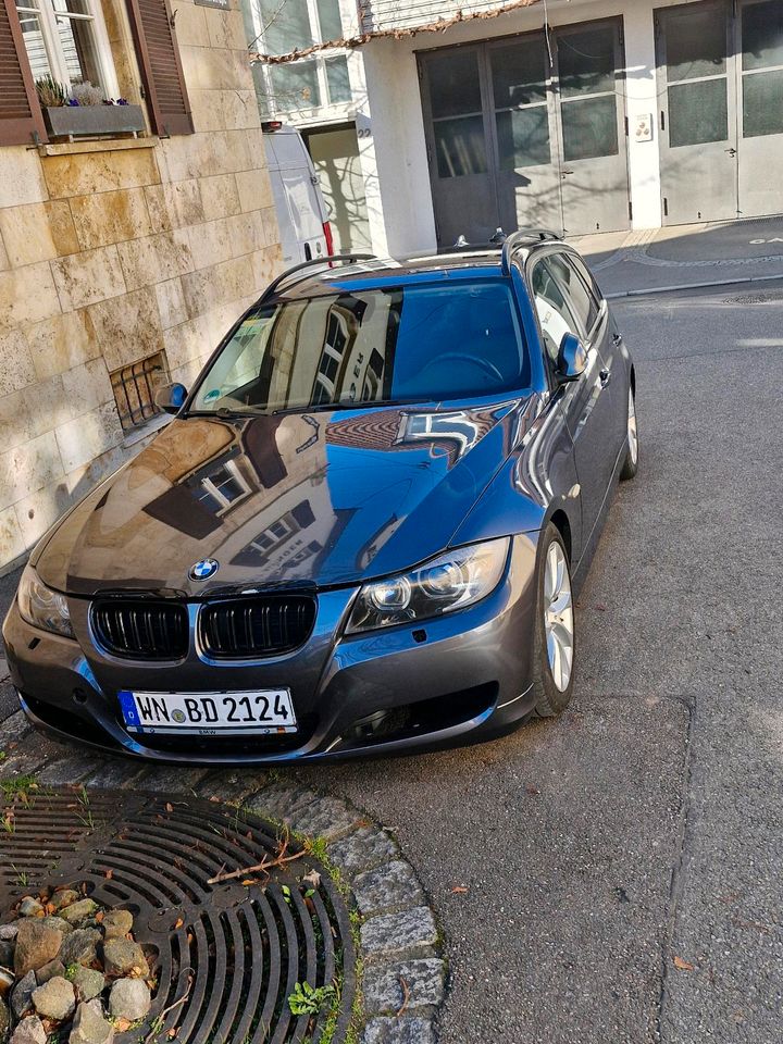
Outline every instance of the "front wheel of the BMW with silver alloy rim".
<path fill-rule="evenodd" d="M 562 567 L 562 585 L 567 586 L 568 598 L 563 599 L 567 602 L 563 612 L 560 613 L 563 619 L 563 626 L 559 629 L 561 637 L 566 637 L 568 632 L 568 624 L 570 621 L 571 630 L 571 659 L 568 662 L 568 656 L 564 652 L 563 646 L 557 641 L 558 627 L 555 625 L 552 633 L 552 624 L 555 618 L 550 613 L 550 607 L 554 601 L 559 601 L 559 598 L 552 599 L 551 588 L 552 588 L 552 579 L 556 580 L 557 588 L 557 572 L 552 574 L 551 570 L 554 566 Z M 573 695 L 573 684 L 574 684 L 574 661 L 576 654 L 576 632 L 574 630 L 574 617 L 573 617 L 573 593 L 571 586 L 571 563 L 569 562 L 568 550 L 563 544 L 562 536 L 560 531 L 556 525 L 549 523 L 546 527 L 542 540 L 540 554 L 538 556 L 538 577 L 536 584 L 537 597 L 536 597 L 536 622 L 535 622 L 535 637 L 534 637 L 534 670 L 535 676 L 533 680 L 533 695 L 535 697 L 535 706 L 533 708 L 534 718 L 554 718 L 556 714 L 561 714 L 563 710 L 571 703 L 571 696 Z M 552 650 L 552 644 L 558 647 L 556 650 Z M 558 661 L 557 654 L 560 655 L 560 660 Z M 558 662 L 560 667 L 558 667 Z M 561 670 L 562 667 L 568 666 L 568 676 Z"/>

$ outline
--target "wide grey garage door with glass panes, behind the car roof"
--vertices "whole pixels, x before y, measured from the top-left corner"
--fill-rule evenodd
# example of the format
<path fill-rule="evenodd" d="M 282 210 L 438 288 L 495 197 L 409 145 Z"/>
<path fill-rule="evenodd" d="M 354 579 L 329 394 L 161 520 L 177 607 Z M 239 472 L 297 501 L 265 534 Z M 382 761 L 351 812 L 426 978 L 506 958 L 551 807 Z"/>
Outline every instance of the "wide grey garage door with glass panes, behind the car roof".
<path fill-rule="evenodd" d="M 419 54 L 438 243 L 629 227 L 622 23 Z"/>

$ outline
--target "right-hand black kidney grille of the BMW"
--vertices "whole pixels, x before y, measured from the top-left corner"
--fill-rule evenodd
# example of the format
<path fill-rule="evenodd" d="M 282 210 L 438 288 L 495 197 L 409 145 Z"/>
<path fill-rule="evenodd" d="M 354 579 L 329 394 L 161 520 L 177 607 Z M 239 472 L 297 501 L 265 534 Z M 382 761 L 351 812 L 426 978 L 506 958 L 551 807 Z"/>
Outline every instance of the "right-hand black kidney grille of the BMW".
<path fill-rule="evenodd" d="M 314 622 L 315 599 L 309 596 L 241 598 L 204 606 L 199 638 L 217 658 L 273 656 L 303 645 Z"/>

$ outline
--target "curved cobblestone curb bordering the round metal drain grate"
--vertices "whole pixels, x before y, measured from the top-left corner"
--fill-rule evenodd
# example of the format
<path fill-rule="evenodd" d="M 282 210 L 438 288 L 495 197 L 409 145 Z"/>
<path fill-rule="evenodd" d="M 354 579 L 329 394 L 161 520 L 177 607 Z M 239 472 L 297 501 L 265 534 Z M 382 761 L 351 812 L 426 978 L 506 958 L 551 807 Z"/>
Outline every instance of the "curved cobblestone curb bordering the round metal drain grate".
<path fill-rule="evenodd" d="M 394 838 L 348 801 L 277 771 L 160 769 L 138 761 L 90 757 L 41 739 L 20 711 L 0 724 L 0 779 L 35 773 L 50 785 L 192 794 L 241 805 L 262 818 L 325 844 L 326 857 L 353 895 L 362 917 L 358 952 L 363 962 L 361 1044 L 436 1044 L 446 964 L 432 909 L 415 871 Z M 403 990 L 402 981 L 407 986 Z"/>

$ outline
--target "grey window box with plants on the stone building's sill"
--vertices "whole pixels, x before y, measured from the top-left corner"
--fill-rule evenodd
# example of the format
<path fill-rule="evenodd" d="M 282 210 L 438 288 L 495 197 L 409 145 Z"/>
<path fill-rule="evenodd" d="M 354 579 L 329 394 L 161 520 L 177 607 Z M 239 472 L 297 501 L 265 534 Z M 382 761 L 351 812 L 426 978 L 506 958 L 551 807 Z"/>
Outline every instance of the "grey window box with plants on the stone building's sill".
<path fill-rule="evenodd" d="M 52 137 L 136 135 L 146 129 L 140 105 L 129 105 L 124 98 L 105 99 L 90 83 L 74 84 L 67 92 L 51 76 L 42 76 L 36 90 Z"/>

